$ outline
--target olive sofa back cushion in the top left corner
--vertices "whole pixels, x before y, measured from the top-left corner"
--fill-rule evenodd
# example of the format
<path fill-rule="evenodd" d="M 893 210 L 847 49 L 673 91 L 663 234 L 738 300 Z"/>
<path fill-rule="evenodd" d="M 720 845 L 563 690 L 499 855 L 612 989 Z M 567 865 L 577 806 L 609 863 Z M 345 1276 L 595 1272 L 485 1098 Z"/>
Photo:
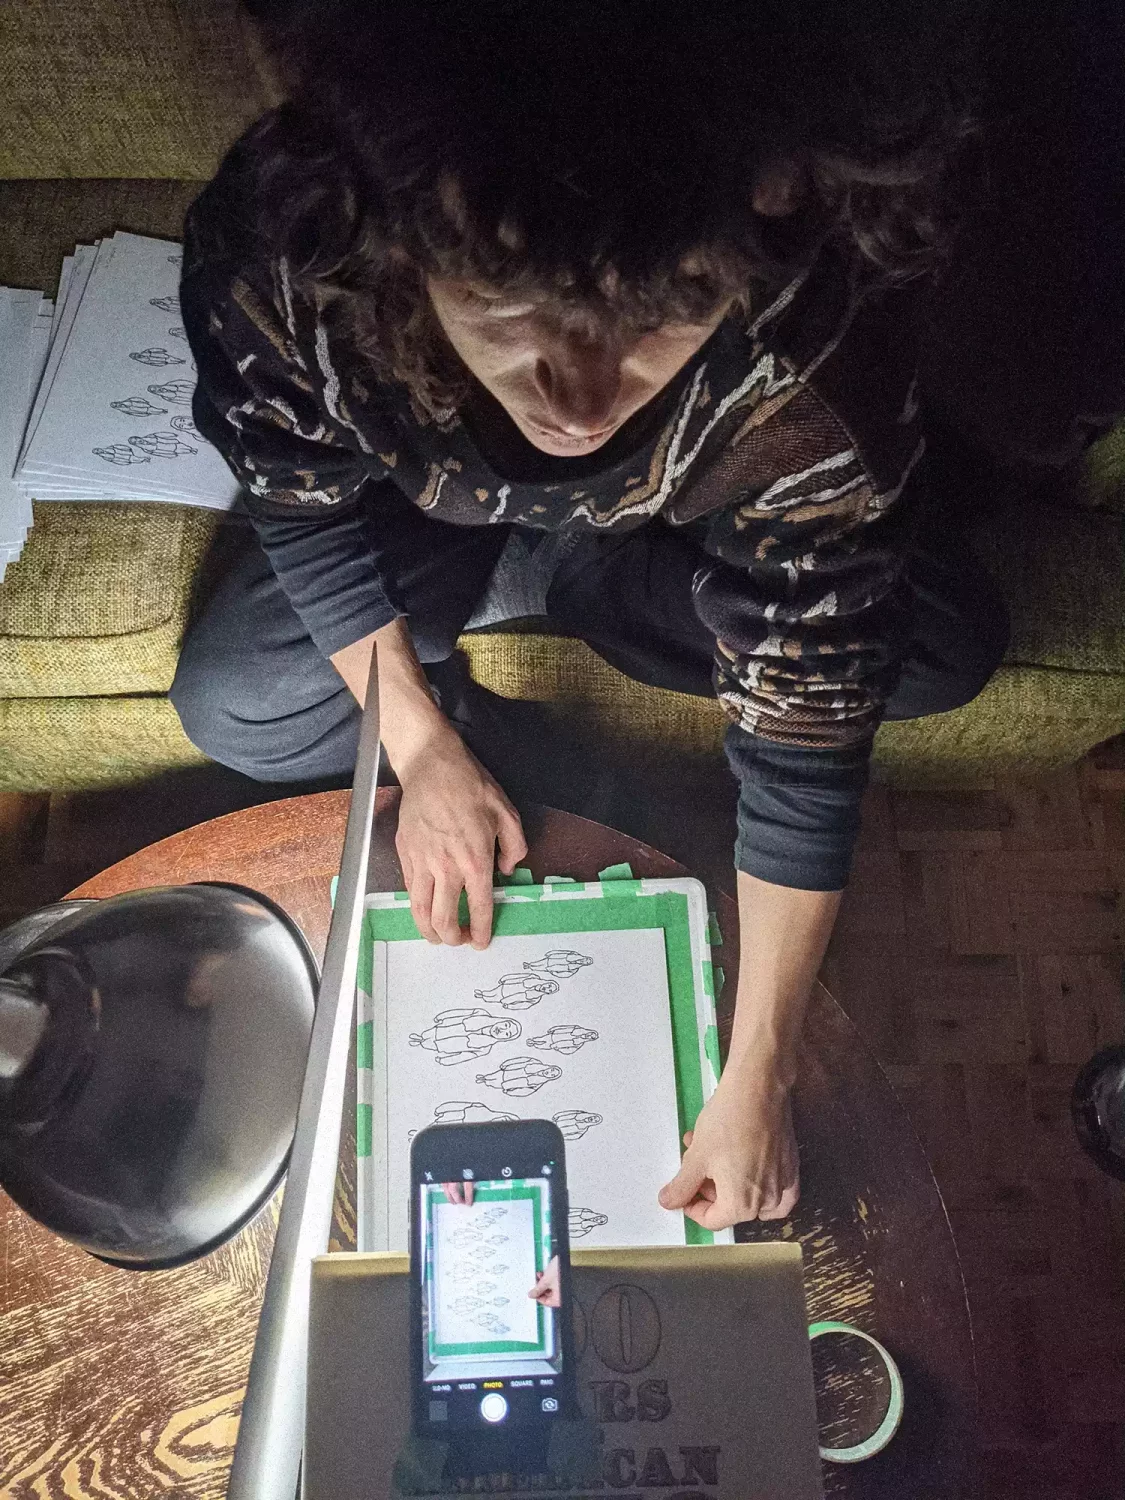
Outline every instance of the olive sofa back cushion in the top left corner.
<path fill-rule="evenodd" d="M 15 0 L 0 177 L 201 177 L 267 106 L 237 0 Z"/>

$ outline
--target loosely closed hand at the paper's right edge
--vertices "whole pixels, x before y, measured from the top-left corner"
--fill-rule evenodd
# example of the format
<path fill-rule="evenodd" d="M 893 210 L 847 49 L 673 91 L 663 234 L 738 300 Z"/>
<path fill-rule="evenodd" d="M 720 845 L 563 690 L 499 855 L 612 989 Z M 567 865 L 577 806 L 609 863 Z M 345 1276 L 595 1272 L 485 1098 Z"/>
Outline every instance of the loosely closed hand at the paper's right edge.
<path fill-rule="evenodd" d="M 680 1172 L 660 1190 L 662 1208 L 681 1209 L 712 1230 L 792 1214 L 800 1158 L 783 1084 L 723 1074 L 684 1144 Z"/>

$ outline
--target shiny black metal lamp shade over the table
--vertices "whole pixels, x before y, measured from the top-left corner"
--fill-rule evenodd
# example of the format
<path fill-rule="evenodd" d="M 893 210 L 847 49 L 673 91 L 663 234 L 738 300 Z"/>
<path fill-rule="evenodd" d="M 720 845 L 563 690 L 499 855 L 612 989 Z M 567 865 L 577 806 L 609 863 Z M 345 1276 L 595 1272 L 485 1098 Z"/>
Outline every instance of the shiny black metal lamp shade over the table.
<path fill-rule="evenodd" d="M 184 885 L 75 904 L 0 986 L 42 1017 L 33 1053 L 0 1068 L 0 1185 L 32 1218 L 158 1269 L 270 1200 L 316 996 L 315 958 L 272 902 Z"/>

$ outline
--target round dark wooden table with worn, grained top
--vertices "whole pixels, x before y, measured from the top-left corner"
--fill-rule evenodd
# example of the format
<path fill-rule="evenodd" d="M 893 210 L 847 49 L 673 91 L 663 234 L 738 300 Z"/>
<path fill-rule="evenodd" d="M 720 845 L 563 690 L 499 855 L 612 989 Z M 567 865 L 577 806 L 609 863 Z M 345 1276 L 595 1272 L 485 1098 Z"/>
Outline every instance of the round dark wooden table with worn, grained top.
<path fill-rule="evenodd" d="M 322 951 L 346 808 L 346 792 L 326 792 L 218 818 L 142 849 L 72 894 L 230 880 L 284 906 Z M 396 816 L 398 792 L 380 792 L 369 890 L 402 885 Z M 656 849 L 568 813 L 526 810 L 525 831 L 536 879 L 590 880 L 621 861 L 639 876 L 684 873 Z M 734 980 L 736 910 L 724 896 L 714 900 L 723 932 L 714 958 Z M 729 982 L 720 999 L 723 1040 L 732 1004 Z M 976 1378 L 950 1222 L 904 1112 L 822 986 L 806 1028 L 796 1131 L 796 1212 L 786 1224 L 748 1227 L 740 1238 L 798 1239 L 810 1320 L 843 1318 L 876 1334 L 906 1384 L 906 1418 L 891 1446 L 864 1464 L 825 1466 L 825 1492 L 849 1500 L 968 1497 Z M 351 1238 L 346 1155 L 336 1228 L 344 1248 Z M 0 1214 L 0 1500 L 224 1496 L 273 1214 L 195 1264 L 150 1274 L 87 1257 L 2 1192 Z M 852 1384 L 849 1398 L 844 1382 L 844 1408 L 849 1400 L 861 1404 L 860 1388 L 870 1389 Z"/>

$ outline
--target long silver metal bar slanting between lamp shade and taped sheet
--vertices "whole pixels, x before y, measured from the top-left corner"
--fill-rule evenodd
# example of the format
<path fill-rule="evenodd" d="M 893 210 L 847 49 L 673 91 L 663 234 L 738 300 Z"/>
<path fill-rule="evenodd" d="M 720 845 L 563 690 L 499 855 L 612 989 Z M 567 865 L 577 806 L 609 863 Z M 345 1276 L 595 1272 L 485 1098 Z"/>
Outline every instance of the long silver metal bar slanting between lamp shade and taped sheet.
<path fill-rule="evenodd" d="M 312 1257 L 327 1248 L 332 1226 L 378 776 L 380 684 L 372 651 L 340 878 L 228 1500 L 294 1500 L 297 1494 L 304 1438 L 309 1276 Z"/>

